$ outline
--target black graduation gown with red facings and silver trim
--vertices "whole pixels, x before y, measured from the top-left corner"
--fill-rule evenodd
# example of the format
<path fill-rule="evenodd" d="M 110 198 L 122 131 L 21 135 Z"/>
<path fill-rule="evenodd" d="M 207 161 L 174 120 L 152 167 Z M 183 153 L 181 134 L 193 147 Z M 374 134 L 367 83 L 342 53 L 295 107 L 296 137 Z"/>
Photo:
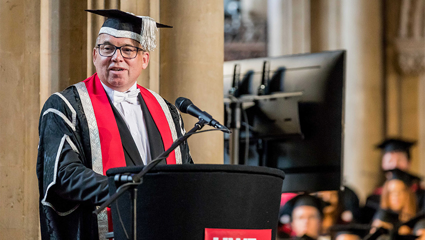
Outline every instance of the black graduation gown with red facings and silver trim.
<path fill-rule="evenodd" d="M 185 132 L 174 105 L 137 87 L 154 159 Z M 109 196 L 106 170 L 143 162 L 97 74 L 52 94 L 41 110 L 38 130 L 41 239 L 105 239 L 106 211 L 97 216 L 92 211 Z M 187 142 L 163 163 L 193 163 Z"/>

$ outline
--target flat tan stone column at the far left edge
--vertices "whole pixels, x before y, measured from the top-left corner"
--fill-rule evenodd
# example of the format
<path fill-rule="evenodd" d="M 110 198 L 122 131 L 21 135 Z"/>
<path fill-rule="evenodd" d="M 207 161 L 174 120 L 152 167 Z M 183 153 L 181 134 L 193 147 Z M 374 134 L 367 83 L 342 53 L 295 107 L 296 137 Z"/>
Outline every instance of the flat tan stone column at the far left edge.
<path fill-rule="evenodd" d="M 40 0 L 1 2 L 0 53 L 0 239 L 37 239 Z"/>

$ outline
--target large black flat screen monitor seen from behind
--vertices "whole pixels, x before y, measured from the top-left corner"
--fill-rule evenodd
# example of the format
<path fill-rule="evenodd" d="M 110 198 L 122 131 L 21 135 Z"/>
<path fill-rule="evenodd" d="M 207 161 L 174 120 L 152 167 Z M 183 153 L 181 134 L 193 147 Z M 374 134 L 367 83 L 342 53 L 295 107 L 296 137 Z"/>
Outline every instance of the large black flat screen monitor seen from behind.
<path fill-rule="evenodd" d="M 260 88 L 264 61 L 269 67 L 268 77 L 265 88 Z M 263 160 L 258 160 L 257 164 L 285 172 L 283 192 L 336 190 L 341 184 L 344 61 L 345 51 L 338 50 L 224 63 L 224 96 L 232 87 L 235 65 L 239 71 L 238 85 L 242 86 L 237 92 L 239 96 L 258 95 L 258 89 L 263 89 L 262 94 L 302 92 L 297 109 L 302 134 L 260 136 L 266 144 Z M 255 115 L 258 109 L 261 111 L 258 102 L 254 107 L 257 107 L 256 111 L 249 113 L 248 109 L 247 112 Z M 285 109 L 273 108 L 276 112 Z M 250 136 L 255 137 L 255 133 Z"/>

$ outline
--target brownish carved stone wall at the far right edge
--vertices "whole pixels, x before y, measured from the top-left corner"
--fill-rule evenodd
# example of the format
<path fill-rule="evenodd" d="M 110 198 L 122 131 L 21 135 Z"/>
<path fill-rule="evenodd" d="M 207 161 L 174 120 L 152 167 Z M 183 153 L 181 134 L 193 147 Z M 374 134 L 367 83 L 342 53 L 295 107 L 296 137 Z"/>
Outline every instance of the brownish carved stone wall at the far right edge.
<path fill-rule="evenodd" d="M 385 135 L 416 140 L 411 170 L 425 173 L 425 0 L 385 0 Z"/>

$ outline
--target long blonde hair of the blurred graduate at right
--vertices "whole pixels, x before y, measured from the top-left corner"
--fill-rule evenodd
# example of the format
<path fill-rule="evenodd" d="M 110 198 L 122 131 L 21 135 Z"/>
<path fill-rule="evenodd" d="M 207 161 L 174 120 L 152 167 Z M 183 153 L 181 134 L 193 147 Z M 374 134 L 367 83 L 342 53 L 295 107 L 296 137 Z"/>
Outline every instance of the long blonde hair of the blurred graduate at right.
<path fill-rule="evenodd" d="M 394 180 L 394 179 L 392 179 Z M 398 180 L 398 179 L 396 179 Z M 385 181 L 383 188 L 382 188 L 382 194 L 380 197 L 380 207 L 382 209 L 390 209 L 389 205 L 389 182 L 391 180 Z M 398 180 L 403 183 L 404 185 L 404 192 L 406 193 L 406 202 L 401 207 L 401 210 L 398 212 L 399 216 L 398 219 L 400 221 L 407 221 L 411 217 L 413 217 L 416 214 L 416 197 L 414 192 L 401 180 Z"/>

